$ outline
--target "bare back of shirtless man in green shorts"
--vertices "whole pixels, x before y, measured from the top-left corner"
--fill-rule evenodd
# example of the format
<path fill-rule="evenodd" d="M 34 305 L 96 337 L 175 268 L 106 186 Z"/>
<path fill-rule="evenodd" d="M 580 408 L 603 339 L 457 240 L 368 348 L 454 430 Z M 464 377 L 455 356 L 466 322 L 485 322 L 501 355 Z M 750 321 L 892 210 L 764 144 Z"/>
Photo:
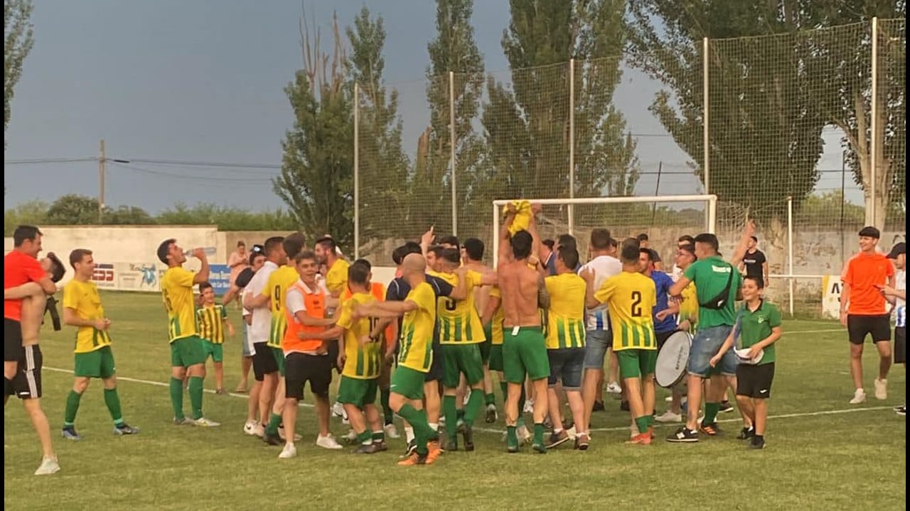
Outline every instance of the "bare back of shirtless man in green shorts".
<path fill-rule="evenodd" d="M 512 261 L 497 269 L 502 293 L 503 326 L 541 326 L 537 297 L 540 274 L 526 261 Z"/>

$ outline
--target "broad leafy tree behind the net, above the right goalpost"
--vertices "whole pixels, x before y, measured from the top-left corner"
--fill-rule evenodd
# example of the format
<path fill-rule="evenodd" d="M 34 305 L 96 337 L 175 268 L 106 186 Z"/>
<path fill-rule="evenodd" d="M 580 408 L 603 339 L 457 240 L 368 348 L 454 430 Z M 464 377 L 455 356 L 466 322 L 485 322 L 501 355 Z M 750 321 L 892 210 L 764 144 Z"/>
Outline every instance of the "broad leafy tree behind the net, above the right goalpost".
<path fill-rule="evenodd" d="M 703 182 L 701 48 L 703 37 L 713 39 L 708 190 L 734 215 L 759 221 L 772 265 L 784 260 L 786 197 L 798 208 L 818 181 L 825 124 L 813 95 L 814 76 L 824 70 L 807 59 L 808 38 L 795 33 L 814 15 L 791 4 L 631 2 L 634 63 L 666 87 L 650 109 Z M 742 39 L 723 40 L 733 37 Z"/>

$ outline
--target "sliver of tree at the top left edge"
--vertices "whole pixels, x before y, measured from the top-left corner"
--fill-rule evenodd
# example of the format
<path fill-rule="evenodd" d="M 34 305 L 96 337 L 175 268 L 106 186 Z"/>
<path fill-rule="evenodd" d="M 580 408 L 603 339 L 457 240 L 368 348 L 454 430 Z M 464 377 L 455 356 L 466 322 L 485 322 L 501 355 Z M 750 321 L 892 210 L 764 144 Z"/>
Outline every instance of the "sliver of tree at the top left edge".
<path fill-rule="evenodd" d="M 22 77 L 22 63 L 32 50 L 32 2 L 31 0 L 4 0 L 3 34 L 3 131 L 9 126 L 10 103 L 13 101 L 15 85 Z M 4 149 L 6 140 L 4 139 Z"/>

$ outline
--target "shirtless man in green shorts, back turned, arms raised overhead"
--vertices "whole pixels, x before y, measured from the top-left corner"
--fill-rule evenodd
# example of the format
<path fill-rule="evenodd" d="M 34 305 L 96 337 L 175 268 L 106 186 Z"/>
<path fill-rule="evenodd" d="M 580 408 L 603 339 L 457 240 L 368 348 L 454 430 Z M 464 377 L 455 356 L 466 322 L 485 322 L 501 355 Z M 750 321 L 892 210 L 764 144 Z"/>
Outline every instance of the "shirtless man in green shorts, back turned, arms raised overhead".
<path fill-rule="evenodd" d="M 533 216 L 528 230 L 509 234 L 515 220 L 515 209 L 510 207 L 500 233 L 500 253 L 497 273 L 502 293 L 504 338 L 502 342 L 503 373 L 509 384 L 506 399 L 506 443 L 510 453 L 519 450 L 516 426 L 518 402 L 525 376 L 534 387 L 534 438 L 533 449 L 547 452 L 543 443 L 543 420 L 547 416 L 547 378 L 550 362 L 541 328 L 540 307 L 549 306 L 543 276 L 534 267 L 539 262 L 532 254 L 540 245 L 537 235 L 537 214 L 540 205 L 532 205 Z"/>

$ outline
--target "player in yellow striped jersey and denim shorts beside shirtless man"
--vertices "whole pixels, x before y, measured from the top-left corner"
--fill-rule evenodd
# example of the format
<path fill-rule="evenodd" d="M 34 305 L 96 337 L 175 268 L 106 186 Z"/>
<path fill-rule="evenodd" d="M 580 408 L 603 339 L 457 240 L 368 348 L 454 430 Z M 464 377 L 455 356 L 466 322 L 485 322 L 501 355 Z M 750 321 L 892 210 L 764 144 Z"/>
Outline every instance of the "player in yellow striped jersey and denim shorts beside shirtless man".
<path fill-rule="evenodd" d="M 569 400 L 571 415 L 575 417 L 576 431 L 588 431 L 584 424 L 584 402 L 581 400 L 581 369 L 584 366 L 584 300 L 587 284 L 575 274 L 578 250 L 563 246 L 555 255 L 556 275 L 544 280 L 550 294 L 547 309 L 547 356 L 550 359 L 548 399 L 553 432 L 547 448 L 560 446 L 569 440 L 562 428 L 561 400 L 556 396 L 556 384 Z"/>

